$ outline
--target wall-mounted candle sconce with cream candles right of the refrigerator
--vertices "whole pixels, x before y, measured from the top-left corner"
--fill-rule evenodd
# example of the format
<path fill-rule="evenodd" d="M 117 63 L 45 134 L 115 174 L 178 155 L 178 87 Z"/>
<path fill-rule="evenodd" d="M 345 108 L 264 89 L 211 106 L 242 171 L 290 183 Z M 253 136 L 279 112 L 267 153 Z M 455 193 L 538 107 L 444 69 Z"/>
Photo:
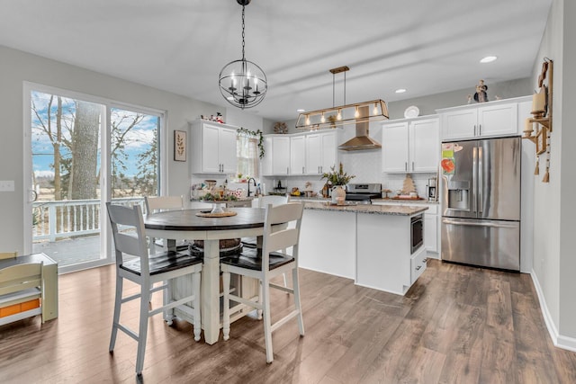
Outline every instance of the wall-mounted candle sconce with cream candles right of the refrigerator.
<path fill-rule="evenodd" d="M 548 85 L 545 85 L 546 75 Z M 550 182 L 550 132 L 552 132 L 552 101 L 553 101 L 554 60 L 544 58 L 542 72 L 538 76 L 540 90 L 532 95 L 532 118 L 527 118 L 524 136 L 536 144 L 536 169 L 534 174 L 540 174 L 540 155 L 546 153 L 546 172 L 542 183 Z M 536 129 L 534 127 L 536 123 Z"/>

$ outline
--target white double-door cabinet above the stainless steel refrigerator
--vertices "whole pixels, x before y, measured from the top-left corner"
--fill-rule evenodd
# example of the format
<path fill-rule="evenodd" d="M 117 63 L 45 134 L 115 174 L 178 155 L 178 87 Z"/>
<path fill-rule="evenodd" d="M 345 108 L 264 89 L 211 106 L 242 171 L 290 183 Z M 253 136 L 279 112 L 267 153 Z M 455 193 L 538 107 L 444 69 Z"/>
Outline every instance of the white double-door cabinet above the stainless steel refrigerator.
<path fill-rule="evenodd" d="M 518 102 L 491 102 L 437 111 L 442 139 L 486 138 L 518 134 Z"/>

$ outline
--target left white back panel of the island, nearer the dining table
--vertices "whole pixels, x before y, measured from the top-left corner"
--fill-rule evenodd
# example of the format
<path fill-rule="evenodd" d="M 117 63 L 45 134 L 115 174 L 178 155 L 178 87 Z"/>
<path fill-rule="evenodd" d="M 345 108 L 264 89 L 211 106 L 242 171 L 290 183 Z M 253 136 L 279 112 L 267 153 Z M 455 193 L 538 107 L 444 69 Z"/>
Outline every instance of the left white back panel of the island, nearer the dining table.
<path fill-rule="evenodd" d="M 300 233 L 302 268 L 356 277 L 356 212 L 304 210 Z"/>

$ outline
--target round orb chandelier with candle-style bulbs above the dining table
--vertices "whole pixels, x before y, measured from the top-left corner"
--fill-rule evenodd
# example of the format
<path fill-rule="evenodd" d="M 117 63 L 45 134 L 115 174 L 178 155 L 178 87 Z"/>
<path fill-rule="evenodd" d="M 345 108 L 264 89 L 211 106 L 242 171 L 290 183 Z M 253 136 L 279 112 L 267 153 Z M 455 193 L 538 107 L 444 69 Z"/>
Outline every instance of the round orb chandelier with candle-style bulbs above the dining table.
<path fill-rule="evenodd" d="M 262 103 L 268 90 L 266 74 L 244 55 L 244 8 L 250 0 L 236 0 L 242 5 L 242 58 L 229 62 L 220 71 L 220 94 L 235 107 L 252 108 Z"/>

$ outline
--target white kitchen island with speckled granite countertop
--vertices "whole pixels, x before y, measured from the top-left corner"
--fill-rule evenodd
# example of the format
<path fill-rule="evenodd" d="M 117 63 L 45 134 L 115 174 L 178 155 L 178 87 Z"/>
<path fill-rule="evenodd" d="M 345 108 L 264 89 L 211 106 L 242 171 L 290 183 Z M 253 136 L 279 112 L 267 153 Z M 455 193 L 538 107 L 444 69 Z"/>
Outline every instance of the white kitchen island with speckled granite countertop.
<path fill-rule="evenodd" d="M 410 220 L 428 207 L 305 202 L 300 266 L 403 295 L 426 269 L 411 251 Z"/>

